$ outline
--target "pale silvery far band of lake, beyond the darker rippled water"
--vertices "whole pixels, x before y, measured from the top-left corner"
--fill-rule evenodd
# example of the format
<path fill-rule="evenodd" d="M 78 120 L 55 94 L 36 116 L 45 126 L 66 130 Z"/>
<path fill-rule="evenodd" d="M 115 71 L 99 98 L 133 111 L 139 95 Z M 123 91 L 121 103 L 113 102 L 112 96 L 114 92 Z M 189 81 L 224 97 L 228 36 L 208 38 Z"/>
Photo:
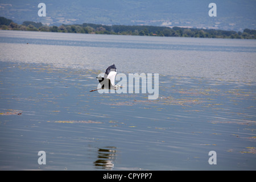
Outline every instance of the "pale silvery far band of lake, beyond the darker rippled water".
<path fill-rule="evenodd" d="M 256 40 L 1 31 L 1 60 L 255 82 Z M 29 43 L 29 44 L 26 44 Z M 57 46 L 56 46 L 57 45 Z"/>

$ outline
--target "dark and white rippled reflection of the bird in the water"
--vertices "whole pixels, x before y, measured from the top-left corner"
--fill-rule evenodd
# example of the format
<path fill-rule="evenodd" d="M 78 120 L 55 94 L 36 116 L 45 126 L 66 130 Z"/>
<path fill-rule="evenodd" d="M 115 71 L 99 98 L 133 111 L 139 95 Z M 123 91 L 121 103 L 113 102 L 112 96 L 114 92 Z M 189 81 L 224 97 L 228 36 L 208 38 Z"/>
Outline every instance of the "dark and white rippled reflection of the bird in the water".
<path fill-rule="evenodd" d="M 94 162 L 95 168 L 112 169 L 114 167 L 115 154 L 117 153 L 116 148 L 113 146 L 98 148 L 98 160 Z"/>

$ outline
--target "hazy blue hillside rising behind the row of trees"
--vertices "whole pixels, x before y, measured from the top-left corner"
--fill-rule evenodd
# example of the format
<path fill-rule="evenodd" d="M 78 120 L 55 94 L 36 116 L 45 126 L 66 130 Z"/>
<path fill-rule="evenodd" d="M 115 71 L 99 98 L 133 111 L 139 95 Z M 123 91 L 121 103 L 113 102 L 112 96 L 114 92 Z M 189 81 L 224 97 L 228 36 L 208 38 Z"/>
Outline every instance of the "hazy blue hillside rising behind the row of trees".
<path fill-rule="evenodd" d="M 46 17 L 38 16 L 38 4 L 46 4 Z M 217 5 L 210 17 L 209 3 Z M 0 0 L 0 16 L 15 23 L 42 22 L 47 25 L 94 23 L 216 28 L 242 31 L 256 29 L 255 0 Z"/>

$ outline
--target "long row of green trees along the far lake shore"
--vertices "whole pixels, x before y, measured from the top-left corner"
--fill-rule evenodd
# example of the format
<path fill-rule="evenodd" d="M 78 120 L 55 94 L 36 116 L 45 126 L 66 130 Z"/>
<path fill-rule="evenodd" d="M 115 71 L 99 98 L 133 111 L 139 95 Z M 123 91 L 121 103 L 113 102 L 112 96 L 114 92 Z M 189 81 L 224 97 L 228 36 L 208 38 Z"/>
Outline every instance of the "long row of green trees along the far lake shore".
<path fill-rule="evenodd" d="M 42 23 L 26 21 L 22 24 L 0 17 L 1 30 L 45 31 L 45 32 L 71 32 L 80 34 L 112 34 L 112 35 L 141 35 L 141 36 L 179 36 L 192 38 L 231 38 L 256 39 L 256 30 L 245 29 L 243 32 L 225 31 L 215 29 L 157 27 L 157 26 L 106 26 L 102 24 L 73 24 L 61 26 L 45 26 Z"/>

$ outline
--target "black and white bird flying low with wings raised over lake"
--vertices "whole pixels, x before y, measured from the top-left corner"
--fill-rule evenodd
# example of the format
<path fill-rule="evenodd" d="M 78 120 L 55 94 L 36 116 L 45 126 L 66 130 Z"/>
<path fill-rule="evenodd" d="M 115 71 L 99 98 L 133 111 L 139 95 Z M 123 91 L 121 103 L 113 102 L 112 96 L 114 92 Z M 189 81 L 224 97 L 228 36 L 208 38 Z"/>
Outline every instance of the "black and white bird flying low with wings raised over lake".
<path fill-rule="evenodd" d="M 117 68 L 115 67 L 115 64 L 112 64 L 106 69 L 104 77 L 102 77 L 102 76 L 96 77 L 101 84 L 100 89 L 117 90 L 119 87 L 122 87 L 119 85 L 115 85 L 115 76 L 116 75 L 117 75 Z M 90 90 L 90 92 L 100 90 L 100 89 Z"/>

